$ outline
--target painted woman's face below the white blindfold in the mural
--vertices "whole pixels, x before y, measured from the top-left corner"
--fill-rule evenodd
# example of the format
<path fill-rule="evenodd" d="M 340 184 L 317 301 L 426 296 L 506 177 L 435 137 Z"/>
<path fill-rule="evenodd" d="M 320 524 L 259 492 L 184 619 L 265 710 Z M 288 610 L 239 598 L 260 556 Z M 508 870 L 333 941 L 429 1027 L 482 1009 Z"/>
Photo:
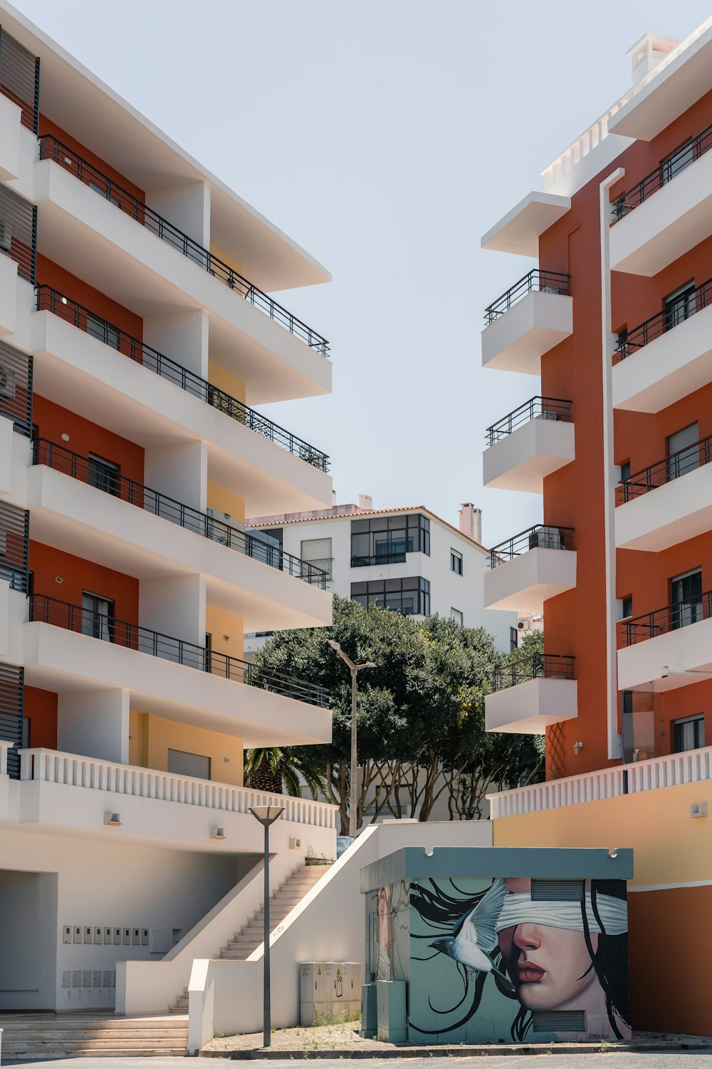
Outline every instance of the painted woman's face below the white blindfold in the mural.
<path fill-rule="evenodd" d="M 598 948 L 598 935 L 590 935 Z M 598 983 L 584 933 L 549 925 L 503 928 L 500 949 L 526 1009 L 561 1009 L 590 983 Z"/>

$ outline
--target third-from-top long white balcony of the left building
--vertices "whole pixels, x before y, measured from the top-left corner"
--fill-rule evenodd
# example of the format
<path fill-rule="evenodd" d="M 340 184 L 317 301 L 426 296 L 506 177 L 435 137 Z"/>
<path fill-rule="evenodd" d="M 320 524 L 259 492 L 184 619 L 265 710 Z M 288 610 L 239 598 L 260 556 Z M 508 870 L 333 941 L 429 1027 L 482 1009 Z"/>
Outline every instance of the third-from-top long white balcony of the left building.
<path fill-rule="evenodd" d="M 43 455 L 50 459 L 46 451 Z M 237 536 L 238 548 L 230 548 L 156 515 L 151 511 L 154 498 L 140 491 L 137 495 L 139 501 L 145 498 L 145 509 L 46 463 L 37 464 L 27 471 L 26 503 L 31 510 L 32 537 L 139 580 L 204 575 L 208 605 L 239 617 L 248 631 L 315 628 L 331 622 L 331 593 L 300 578 L 298 563 L 297 574 L 289 575 L 260 560 L 257 553 L 249 556 L 240 552 L 243 543 Z M 168 502 L 163 510 L 178 516 L 178 510 L 171 511 Z M 186 523 L 190 522 L 188 515 Z M 250 545 L 256 545 L 258 552 L 256 542 Z"/>

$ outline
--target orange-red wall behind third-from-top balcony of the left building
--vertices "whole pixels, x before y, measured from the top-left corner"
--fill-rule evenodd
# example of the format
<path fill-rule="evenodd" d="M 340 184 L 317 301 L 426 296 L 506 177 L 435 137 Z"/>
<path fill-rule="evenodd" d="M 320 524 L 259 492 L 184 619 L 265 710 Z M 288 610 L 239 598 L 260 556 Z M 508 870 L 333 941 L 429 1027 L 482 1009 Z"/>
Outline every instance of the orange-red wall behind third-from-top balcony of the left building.
<path fill-rule="evenodd" d="M 143 482 L 144 451 L 141 446 L 36 393 L 32 414 L 35 437 L 46 438 L 83 458 L 94 453 L 101 460 L 116 464 L 118 475 Z M 68 435 L 68 440 L 63 439 L 63 434 Z"/>

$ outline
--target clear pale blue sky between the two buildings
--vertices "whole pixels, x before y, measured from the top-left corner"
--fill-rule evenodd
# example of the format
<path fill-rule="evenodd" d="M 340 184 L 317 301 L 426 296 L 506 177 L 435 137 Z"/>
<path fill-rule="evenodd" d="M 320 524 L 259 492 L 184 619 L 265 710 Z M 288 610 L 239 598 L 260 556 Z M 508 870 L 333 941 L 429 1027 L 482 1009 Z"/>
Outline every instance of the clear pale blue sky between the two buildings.
<path fill-rule="evenodd" d="M 627 49 L 709 0 L 15 3 L 332 272 L 282 300 L 331 341 L 333 396 L 269 415 L 339 503 L 472 500 L 489 545 L 541 520 L 481 485 L 486 427 L 539 386 L 480 367 L 482 309 L 534 262 L 479 239 L 626 91 Z"/>

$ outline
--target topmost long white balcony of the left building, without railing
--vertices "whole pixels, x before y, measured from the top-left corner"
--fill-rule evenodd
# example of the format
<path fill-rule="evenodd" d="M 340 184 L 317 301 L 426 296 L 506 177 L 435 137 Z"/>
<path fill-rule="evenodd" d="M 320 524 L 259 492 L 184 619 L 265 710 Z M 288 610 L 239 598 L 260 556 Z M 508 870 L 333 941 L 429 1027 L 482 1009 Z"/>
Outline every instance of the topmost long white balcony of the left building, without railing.
<path fill-rule="evenodd" d="M 331 362 L 51 159 L 34 165 L 39 251 L 141 316 L 207 311 L 217 362 L 247 402 L 328 393 Z M 69 295 L 72 296 L 72 295 Z"/>

